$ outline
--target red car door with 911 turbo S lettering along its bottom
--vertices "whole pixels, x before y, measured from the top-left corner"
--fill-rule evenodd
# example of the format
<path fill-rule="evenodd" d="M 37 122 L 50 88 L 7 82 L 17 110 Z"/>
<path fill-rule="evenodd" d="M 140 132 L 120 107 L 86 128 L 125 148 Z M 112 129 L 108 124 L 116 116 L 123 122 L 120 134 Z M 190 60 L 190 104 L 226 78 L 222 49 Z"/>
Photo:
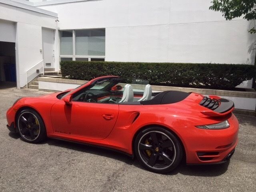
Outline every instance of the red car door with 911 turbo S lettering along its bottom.
<path fill-rule="evenodd" d="M 118 118 L 118 104 L 60 100 L 52 106 L 54 133 L 101 140 L 106 138 Z"/>

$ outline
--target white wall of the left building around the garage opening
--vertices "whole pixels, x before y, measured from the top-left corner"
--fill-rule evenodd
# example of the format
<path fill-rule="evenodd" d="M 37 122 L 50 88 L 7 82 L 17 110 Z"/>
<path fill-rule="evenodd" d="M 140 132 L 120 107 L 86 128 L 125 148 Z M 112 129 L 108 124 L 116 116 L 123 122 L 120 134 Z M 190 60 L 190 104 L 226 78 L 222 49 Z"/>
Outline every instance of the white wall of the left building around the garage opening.
<path fill-rule="evenodd" d="M 16 42 L 18 88 L 26 85 L 26 70 L 43 59 L 40 52 L 42 27 L 56 30 L 55 16 L 33 11 L 38 8 L 32 6 L 27 7 L 32 10 L 0 2 L 0 40 Z"/>

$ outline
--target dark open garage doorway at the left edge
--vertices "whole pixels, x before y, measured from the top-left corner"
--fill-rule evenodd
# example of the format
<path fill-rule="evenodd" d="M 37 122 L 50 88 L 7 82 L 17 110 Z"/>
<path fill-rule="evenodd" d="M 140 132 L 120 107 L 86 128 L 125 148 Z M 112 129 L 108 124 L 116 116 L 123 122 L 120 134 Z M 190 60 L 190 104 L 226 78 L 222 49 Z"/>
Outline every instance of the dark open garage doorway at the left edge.
<path fill-rule="evenodd" d="M 0 89 L 16 87 L 15 43 L 0 41 Z"/>

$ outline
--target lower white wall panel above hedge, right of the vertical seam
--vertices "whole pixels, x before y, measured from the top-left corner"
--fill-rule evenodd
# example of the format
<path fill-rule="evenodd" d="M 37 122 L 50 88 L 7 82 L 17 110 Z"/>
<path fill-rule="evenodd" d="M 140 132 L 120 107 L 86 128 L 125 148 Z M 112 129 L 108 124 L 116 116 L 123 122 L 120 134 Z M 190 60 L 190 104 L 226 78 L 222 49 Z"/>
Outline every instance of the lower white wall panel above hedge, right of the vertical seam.
<path fill-rule="evenodd" d="M 252 64 L 247 26 L 244 20 L 170 25 L 168 60 Z"/>

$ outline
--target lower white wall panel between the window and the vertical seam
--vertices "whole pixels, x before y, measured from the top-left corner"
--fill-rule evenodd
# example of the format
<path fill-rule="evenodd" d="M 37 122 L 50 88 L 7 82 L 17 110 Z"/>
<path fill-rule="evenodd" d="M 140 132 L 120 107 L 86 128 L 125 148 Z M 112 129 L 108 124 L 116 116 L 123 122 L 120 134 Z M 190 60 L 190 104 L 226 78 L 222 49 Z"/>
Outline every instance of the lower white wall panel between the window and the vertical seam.
<path fill-rule="evenodd" d="M 166 62 L 167 47 L 167 25 L 106 28 L 107 61 Z"/>

